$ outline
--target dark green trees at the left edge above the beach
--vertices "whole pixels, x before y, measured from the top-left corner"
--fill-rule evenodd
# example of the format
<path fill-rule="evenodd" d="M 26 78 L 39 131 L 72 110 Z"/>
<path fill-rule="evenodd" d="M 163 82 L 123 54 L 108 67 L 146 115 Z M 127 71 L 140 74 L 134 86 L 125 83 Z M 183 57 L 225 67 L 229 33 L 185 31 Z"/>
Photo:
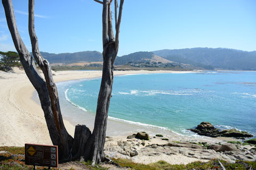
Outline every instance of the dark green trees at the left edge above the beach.
<path fill-rule="evenodd" d="M 18 53 L 0 52 L 0 70 L 11 71 L 14 66 L 21 66 Z"/>

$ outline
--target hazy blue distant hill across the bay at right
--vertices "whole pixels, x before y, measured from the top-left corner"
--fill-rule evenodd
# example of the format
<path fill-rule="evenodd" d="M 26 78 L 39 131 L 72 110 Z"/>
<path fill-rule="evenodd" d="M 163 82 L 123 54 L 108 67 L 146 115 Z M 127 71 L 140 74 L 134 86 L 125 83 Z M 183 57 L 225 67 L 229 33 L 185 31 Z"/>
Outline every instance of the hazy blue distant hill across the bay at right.
<path fill-rule="evenodd" d="M 215 69 L 256 70 L 256 52 L 227 48 L 163 49 L 153 52 L 166 60 Z M 205 67 L 207 68 L 207 67 Z"/>

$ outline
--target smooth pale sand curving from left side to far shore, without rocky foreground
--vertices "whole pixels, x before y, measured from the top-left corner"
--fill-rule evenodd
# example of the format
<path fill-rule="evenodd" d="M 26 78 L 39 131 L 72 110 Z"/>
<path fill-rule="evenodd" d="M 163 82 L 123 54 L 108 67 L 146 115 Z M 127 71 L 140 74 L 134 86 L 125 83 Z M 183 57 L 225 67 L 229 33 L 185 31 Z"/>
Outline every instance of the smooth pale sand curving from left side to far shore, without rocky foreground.
<path fill-rule="evenodd" d="M 115 75 L 141 73 L 171 73 L 175 71 L 115 71 Z M 179 71 L 180 72 L 180 71 Z M 186 71 L 187 72 L 187 71 Z M 55 82 L 101 77 L 101 71 L 53 72 Z M 44 113 L 31 97 L 35 91 L 25 72 L 0 71 L 0 146 L 24 146 L 24 143 L 51 145 Z M 65 120 L 65 126 L 74 135 L 74 125 Z"/>

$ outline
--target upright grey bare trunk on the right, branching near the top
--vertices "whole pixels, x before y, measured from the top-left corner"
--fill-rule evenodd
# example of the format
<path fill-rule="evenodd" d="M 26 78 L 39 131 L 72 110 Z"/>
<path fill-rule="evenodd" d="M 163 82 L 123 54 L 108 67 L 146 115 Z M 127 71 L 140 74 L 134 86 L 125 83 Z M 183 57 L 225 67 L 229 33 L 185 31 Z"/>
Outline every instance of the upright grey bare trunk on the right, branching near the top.
<path fill-rule="evenodd" d="M 95 1 L 95 0 L 94 0 Z M 99 2 L 99 1 L 96 1 Z M 99 2 L 101 3 L 101 2 Z M 114 63 L 116 60 L 119 46 L 119 28 L 123 10 L 124 0 L 121 0 L 119 15 L 117 19 L 117 0 L 115 0 L 115 24 L 116 38 L 114 36 L 111 18 L 111 1 L 104 0 L 102 12 L 102 43 L 103 43 L 103 69 L 100 92 L 98 96 L 97 111 L 94 122 L 94 129 L 88 139 L 85 152 L 85 159 L 91 159 L 93 164 L 102 162 L 106 159 L 103 148 L 106 139 L 108 109 L 110 104 L 111 92 L 113 88 Z"/>

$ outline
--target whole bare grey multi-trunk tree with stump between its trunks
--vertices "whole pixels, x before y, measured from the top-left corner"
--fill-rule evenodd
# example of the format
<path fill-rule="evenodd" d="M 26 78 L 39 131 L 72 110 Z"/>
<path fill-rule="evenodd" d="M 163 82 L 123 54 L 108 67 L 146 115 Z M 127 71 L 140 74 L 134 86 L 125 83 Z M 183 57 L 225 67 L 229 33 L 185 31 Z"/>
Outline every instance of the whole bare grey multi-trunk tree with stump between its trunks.
<path fill-rule="evenodd" d="M 63 124 L 57 87 L 53 81 L 51 66 L 40 54 L 38 40 L 34 26 L 34 0 L 29 0 L 29 36 L 33 50 L 33 56 L 42 69 L 44 79 L 39 74 L 33 57 L 24 45 L 17 29 L 13 5 L 11 0 L 2 0 L 7 25 L 9 27 L 14 46 L 19 54 L 20 61 L 25 69 L 28 79 L 36 89 L 47 128 L 53 145 L 59 147 L 59 162 L 67 162 L 72 159 L 92 160 L 93 164 L 107 159 L 103 152 L 106 138 L 108 108 L 113 87 L 114 62 L 119 47 L 119 29 L 124 0 L 121 0 L 119 14 L 117 14 L 117 0 L 115 0 L 115 28 L 114 36 L 111 18 L 111 1 L 103 2 L 94 0 L 103 5 L 102 11 L 102 40 L 103 40 L 103 69 L 99 91 L 97 112 L 94 122 L 94 130 L 91 131 L 85 125 L 76 125 L 74 139 L 68 134 Z"/>

